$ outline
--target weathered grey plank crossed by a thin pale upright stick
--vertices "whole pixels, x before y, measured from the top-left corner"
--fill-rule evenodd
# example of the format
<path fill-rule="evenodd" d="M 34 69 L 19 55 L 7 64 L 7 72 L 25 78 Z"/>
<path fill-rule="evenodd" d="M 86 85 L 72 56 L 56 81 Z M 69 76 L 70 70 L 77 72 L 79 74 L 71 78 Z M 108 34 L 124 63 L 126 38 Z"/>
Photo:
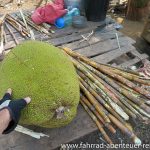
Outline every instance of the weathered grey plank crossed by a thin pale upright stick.
<path fill-rule="evenodd" d="M 121 47 L 124 47 L 126 45 L 132 45 L 134 42 L 128 37 L 120 37 L 119 41 L 120 41 Z M 76 52 L 78 52 L 82 55 L 85 55 L 87 57 L 93 57 L 96 55 L 100 55 L 100 54 L 109 52 L 111 50 L 115 50 L 117 48 L 118 48 L 117 39 L 109 39 L 104 42 L 98 42 L 91 46 L 88 46 L 88 47 L 85 47 L 82 49 L 78 49 L 78 50 L 76 50 Z"/>

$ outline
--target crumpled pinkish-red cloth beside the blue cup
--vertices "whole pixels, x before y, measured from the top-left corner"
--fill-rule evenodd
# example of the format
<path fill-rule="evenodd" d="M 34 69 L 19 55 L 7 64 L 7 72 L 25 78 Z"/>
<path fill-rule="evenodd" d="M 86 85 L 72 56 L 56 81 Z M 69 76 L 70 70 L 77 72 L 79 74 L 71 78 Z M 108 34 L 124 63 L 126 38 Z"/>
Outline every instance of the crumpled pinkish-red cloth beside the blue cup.
<path fill-rule="evenodd" d="M 38 25 L 44 22 L 54 24 L 56 19 L 62 17 L 66 13 L 67 10 L 64 9 L 64 0 L 55 0 L 51 4 L 37 8 L 31 18 L 32 21 Z"/>

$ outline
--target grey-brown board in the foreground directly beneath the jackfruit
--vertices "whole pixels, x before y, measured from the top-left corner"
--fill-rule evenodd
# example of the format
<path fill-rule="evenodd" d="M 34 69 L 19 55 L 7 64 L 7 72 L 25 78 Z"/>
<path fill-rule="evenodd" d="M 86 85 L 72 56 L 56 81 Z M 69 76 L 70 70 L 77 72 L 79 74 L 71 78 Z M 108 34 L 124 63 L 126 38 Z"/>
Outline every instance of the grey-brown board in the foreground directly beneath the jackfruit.
<path fill-rule="evenodd" d="M 86 118 L 86 119 L 83 119 Z M 82 121 L 81 121 L 82 120 Z M 55 149 L 61 144 L 69 143 L 83 135 L 87 135 L 97 130 L 89 115 L 81 105 L 78 106 L 76 118 L 68 125 L 62 128 L 46 129 L 36 128 L 37 132 L 48 134 L 49 138 L 36 140 L 27 135 L 13 132 L 0 138 L 0 149 L 11 150 L 47 150 Z M 7 139 L 7 140 L 6 140 Z"/>

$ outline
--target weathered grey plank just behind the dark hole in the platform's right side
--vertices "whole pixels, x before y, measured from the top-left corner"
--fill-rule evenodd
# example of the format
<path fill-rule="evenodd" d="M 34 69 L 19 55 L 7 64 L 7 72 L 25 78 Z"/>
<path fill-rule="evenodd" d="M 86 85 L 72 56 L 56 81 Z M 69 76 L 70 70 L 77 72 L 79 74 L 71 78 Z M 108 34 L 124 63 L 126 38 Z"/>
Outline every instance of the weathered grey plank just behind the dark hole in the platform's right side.
<path fill-rule="evenodd" d="M 135 50 L 135 48 L 133 46 L 125 46 L 122 47 L 121 50 L 120 49 L 116 49 L 113 51 L 110 51 L 108 53 L 96 56 L 94 58 L 92 58 L 92 60 L 98 62 L 98 63 L 109 63 L 110 61 L 116 59 L 117 57 L 128 53 L 132 50 Z"/>

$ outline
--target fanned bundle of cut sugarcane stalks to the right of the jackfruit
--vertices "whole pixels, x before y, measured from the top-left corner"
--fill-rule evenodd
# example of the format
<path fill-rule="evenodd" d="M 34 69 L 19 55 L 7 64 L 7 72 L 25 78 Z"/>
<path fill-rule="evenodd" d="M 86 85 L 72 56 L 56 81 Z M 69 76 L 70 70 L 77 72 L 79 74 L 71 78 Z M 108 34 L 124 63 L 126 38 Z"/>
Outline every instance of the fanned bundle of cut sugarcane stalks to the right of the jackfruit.
<path fill-rule="evenodd" d="M 96 63 L 69 48 L 62 48 L 74 64 L 80 81 L 80 102 L 108 143 L 104 127 L 116 133 L 118 127 L 136 144 L 141 140 L 129 125 L 129 118 L 150 119 L 150 80 L 138 72 Z"/>

